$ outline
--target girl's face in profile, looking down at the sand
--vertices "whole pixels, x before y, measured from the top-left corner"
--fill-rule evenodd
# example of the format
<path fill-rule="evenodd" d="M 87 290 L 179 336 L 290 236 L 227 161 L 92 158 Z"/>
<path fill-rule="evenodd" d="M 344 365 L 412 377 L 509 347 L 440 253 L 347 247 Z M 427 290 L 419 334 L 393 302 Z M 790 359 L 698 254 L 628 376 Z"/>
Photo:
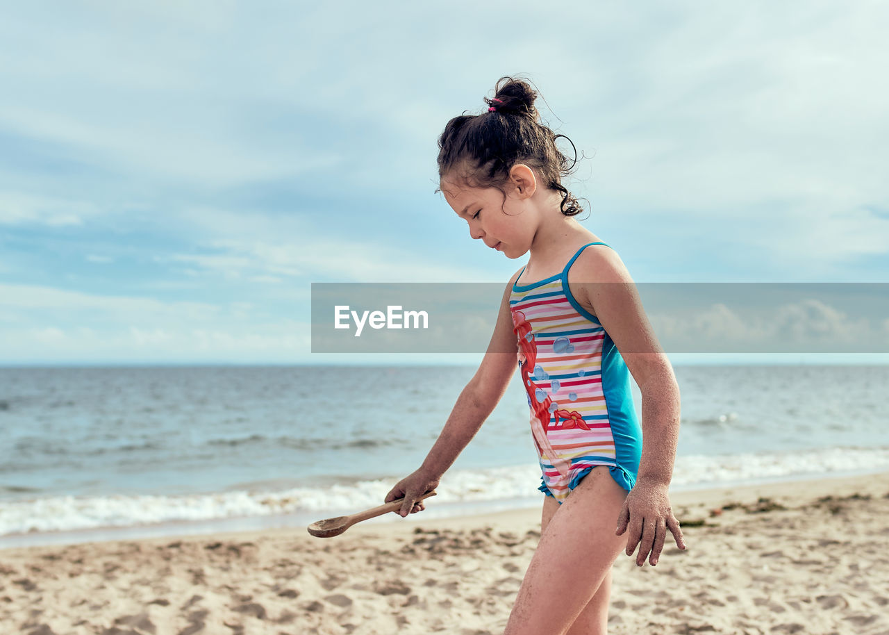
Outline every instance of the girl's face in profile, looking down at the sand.
<path fill-rule="evenodd" d="M 469 188 L 445 176 L 441 190 L 453 211 L 469 223 L 469 236 L 507 258 L 520 258 L 531 248 L 537 219 L 527 205 L 529 195 L 518 187 L 508 188 L 504 201 L 500 189 Z"/>

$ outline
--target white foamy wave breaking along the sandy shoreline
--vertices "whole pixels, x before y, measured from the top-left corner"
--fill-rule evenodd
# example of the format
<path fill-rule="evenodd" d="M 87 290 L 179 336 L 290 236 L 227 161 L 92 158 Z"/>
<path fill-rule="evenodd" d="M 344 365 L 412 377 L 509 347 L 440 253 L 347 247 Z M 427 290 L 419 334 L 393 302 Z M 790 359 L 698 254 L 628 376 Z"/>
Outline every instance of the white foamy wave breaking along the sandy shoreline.
<path fill-rule="evenodd" d="M 889 447 L 682 456 L 677 459 L 672 485 L 680 488 L 719 486 L 862 470 L 889 470 Z M 32 496 L 4 501 L 0 505 L 0 535 L 309 512 L 319 517 L 335 516 L 379 505 L 397 479 L 403 476 L 356 478 L 351 483 L 340 481 L 277 491 L 242 488 L 188 495 Z M 454 513 L 459 513 L 465 509 L 465 503 L 526 503 L 529 499 L 539 498 L 537 486 L 540 482 L 540 470 L 533 464 L 455 470 L 442 479 L 436 490 L 435 504 L 442 510 L 453 509 Z M 6 489 L 10 490 L 8 486 Z M 20 493 L 25 492 L 20 490 Z"/>

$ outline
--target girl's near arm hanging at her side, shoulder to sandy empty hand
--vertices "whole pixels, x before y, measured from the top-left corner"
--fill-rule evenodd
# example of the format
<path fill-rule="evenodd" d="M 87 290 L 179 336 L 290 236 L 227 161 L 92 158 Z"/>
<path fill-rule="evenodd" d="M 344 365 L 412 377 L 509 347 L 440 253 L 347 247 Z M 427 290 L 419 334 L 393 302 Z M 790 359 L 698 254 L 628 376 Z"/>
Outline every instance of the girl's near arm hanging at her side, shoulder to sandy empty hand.
<path fill-rule="evenodd" d="M 627 555 L 632 555 L 638 545 L 639 567 L 645 559 L 656 565 L 668 531 L 677 547 L 685 549 L 668 493 L 679 438 L 676 376 L 645 317 L 636 285 L 617 253 L 607 247 L 584 250 L 570 278 L 578 301 L 591 308 L 605 327 L 642 391 L 642 458 L 636 485 L 627 494 L 618 517 L 616 534 L 629 530 Z"/>

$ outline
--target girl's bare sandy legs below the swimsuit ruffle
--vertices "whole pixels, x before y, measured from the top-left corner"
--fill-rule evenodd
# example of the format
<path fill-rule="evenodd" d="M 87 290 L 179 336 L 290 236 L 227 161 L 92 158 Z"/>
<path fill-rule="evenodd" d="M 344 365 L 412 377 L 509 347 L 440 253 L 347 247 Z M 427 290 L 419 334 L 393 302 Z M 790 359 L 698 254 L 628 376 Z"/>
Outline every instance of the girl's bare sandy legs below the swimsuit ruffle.
<path fill-rule="evenodd" d="M 614 535 L 626 496 L 600 466 L 557 510 L 557 502 L 546 499 L 546 526 L 504 635 L 566 635 L 575 621 L 584 635 L 605 632 L 608 575 L 627 543 Z"/>

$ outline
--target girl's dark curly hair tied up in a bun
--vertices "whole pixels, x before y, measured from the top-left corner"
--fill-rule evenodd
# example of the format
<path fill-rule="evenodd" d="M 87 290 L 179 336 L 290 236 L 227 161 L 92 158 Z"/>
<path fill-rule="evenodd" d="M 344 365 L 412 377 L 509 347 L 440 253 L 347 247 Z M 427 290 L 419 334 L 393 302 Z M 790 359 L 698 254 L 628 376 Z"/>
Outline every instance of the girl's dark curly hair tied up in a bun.
<path fill-rule="evenodd" d="M 534 108 L 538 93 L 522 79 L 509 76 L 497 81 L 494 92 L 493 99 L 485 98 L 491 107 L 486 112 L 453 117 L 445 125 L 438 138 L 438 178 L 453 174 L 471 187 L 503 191 L 509 170 L 523 163 L 537 173 L 544 187 L 562 193 L 560 209 L 565 216 L 581 213 L 577 198 L 562 185 L 562 177 L 577 164 L 577 149 L 573 161 L 557 149 L 557 138 L 568 138 L 541 123 Z"/>

